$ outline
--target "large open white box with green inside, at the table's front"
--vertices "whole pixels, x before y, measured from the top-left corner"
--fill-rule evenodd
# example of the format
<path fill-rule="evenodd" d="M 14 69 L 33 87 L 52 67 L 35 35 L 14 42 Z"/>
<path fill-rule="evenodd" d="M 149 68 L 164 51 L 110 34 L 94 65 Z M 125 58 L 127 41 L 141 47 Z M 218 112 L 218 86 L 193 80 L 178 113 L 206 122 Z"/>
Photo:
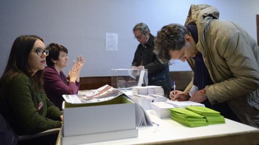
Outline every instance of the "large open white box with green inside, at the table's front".
<path fill-rule="evenodd" d="M 62 108 L 63 137 L 136 130 L 135 103 L 124 96 L 98 103 L 63 102 Z"/>

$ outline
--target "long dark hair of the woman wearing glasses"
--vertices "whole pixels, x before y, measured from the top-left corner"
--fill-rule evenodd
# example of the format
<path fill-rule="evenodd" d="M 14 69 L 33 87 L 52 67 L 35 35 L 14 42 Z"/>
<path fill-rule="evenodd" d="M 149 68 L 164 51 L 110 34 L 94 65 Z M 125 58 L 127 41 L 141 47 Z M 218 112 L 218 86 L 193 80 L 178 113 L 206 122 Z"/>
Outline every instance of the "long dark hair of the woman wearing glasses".
<path fill-rule="evenodd" d="M 38 70 L 37 73 L 33 75 L 33 71 L 30 69 L 27 60 L 31 49 L 33 49 L 33 46 L 38 39 L 44 42 L 36 35 L 22 35 L 15 39 L 7 66 L 0 80 L 2 87 L 4 79 L 9 81 L 13 76 L 22 73 L 31 80 L 33 87 L 37 91 L 43 91 L 43 70 Z"/>

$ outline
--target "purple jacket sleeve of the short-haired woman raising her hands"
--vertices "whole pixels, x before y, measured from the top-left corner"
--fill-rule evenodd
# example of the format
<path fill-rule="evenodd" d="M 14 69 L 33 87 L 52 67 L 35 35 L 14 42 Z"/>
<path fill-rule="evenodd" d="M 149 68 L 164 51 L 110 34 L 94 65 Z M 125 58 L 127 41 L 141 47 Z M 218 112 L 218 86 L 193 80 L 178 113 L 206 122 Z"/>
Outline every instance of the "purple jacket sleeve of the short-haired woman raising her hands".
<path fill-rule="evenodd" d="M 60 74 L 67 80 L 67 77 L 60 71 Z M 76 84 L 74 82 L 68 82 L 68 85 L 65 84 L 57 71 L 53 68 L 46 67 L 44 69 L 44 88 L 51 91 L 56 92 L 58 95 L 72 95 L 77 94 L 80 83 Z"/>

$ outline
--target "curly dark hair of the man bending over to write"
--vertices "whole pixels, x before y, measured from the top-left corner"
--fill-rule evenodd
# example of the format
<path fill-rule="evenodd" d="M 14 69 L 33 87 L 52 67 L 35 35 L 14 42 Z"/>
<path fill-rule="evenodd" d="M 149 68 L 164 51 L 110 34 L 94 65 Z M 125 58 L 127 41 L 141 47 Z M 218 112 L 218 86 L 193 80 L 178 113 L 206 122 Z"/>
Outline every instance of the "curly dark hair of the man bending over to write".
<path fill-rule="evenodd" d="M 169 50 L 180 50 L 184 44 L 185 34 L 189 34 L 189 30 L 180 24 L 165 25 L 157 32 L 155 38 L 154 53 L 162 62 L 169 62 L 171 59 Z"/>

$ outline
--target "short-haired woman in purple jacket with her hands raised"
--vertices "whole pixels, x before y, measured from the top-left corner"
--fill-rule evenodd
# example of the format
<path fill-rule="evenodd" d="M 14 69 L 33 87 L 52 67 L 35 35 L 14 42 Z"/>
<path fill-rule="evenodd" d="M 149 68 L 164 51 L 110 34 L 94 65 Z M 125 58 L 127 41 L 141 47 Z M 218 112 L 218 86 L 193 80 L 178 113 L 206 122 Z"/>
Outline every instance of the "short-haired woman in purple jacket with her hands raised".
<path fill-rule="evenodd" d="M 73 61 L 69 70 L 69 78 L 64 75 L 62 68 L 68 66 L 68 49 L 62 45 L 51 43 L 46 48 L 49 55 L 46 57 L 47 67 L 44 69 L 44 89 L 48 98 L 62 110 L 62 95 L 77 94 L 80 86 L 80 70 L 85 63 L 82 56 Z"/>

